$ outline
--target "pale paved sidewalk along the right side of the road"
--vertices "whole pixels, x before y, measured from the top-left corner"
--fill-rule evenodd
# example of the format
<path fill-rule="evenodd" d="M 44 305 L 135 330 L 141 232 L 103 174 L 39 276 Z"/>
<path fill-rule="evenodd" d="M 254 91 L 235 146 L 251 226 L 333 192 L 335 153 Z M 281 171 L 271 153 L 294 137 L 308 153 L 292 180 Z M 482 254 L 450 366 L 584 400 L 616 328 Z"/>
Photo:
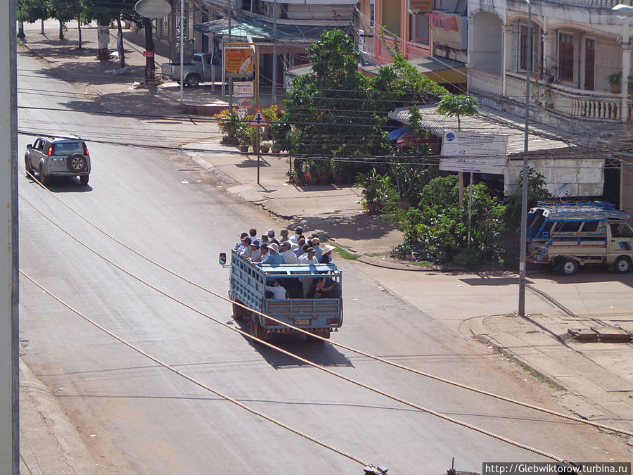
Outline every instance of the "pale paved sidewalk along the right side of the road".
<path fill-rule="evenodd" d="M 58 71 L 60 77 L 87 87 L 97 101 L 114 112 L 155 113 L 160 110 L 160 113 L 165 114 L 181 113 L 180 89 L 174 82 L 162 84 L 153 90 L 130 89 L 135 81 L 143 80 L 145 58 L 142 56 L 144 37 L 141 34 L 131 31 L 124 33 L 126 62 L 131 66 L 132 73 L 107 76 L 108 71 L 118 68 L 118 63 L 109 61 L 101 64 L 95 60 L 94 28 L 84 28 L 85 50 L 77 53 L 75 25 L 68 25 L 64 42 L 55 39 L 55 25 L 51 23 L 47 27 L 46 32 L 50 34 L 48 39 L 39 34 L 39 25 L 30 25 L 26 29 L 25 42 L 32 54 L 44 58 L 53 74 Z M 113 46 L 113 42 L 110 46 Z M 168 56 L 167 46 L 157 43 L 155 61 L 158 70 L 160 63 L 169 61 Z M 68 79 L 67 72 L 80 70 L 86 74 L 75 74 Z M 91 77 L 98 80 L 87 84 L 86 78 Z M 212 92 L 205 84 L 197 88 L 185 88 L 183 99 L 184 103 L 203 104 L 208 108 L 228 106 L 222 97 L 221 87 Z M 217 139 L 186 144 L 183 150 L 203 170 L 218 177 L 227 191 L 269 210 L 283 220 L 295 225 L 302 224 L 306 229 L 319 232 L 324 238 L 362 254 L 359 262 L 411 274 L 411 286 L 415 286 L 416 276 L 421 276 L 421 268 L 398 264 L 385 257 L 402 242 L 401 234 L 381 217 L 362 213 L 357 203 L 358 189 L 333 184 L 288 184 L 287 158 L 269 155 L 260 158 L 260 184 L 257 184 L 257 156 L 236 153 L 235 147 L 224 146 Z M 385 280 L 379 280 L 395 292 L 402 290 L 401 281 L 391 276 L 385 274 Z M 471 277 L 485 278 L 481 275 Z M 508 274 L 508 279 L 516 279 L 516 276 Z M 459 281 L 459 278 L 455 277 L 454 280 Z M 573 308 L 575 299 L 575 294 L 565 293 L 558 300 L 559 307 Z M 603 320 L 600 318 L 604 315 L 577 315 L 573 310 L 568 312 L 569 315 L 561 315 L 561 312 L 556 315 L 544 313 L 526 319 L 497 315 L 506 311 L 506 308 L 495 307 L 498 302 L 494 297 L 487 300 L 488 312 L 485 316 L 463 317 L 459 326 L 461 334 L 478 338 L 492 349 L 512 357 L 545 381 L 564 388 L 565 391 L 558 395 L 559 402 L 581 417 L 633 430 L 633 344 L 579 343 L 566 337 L 568 329 L 589 328 L 595 326 L 596 322 L 633 331 L 632 299 L 625 298 L 616 308 L 612 307 L 615 317 Z M 428 312 L 427 308 L 418 306 Z M 551 307 L 544 306 L 543 309 L 551 312 Z M 503 390 L 498 392 L 502 393 Z M 32 396 L 36 397 L 37 394 Z M 23 418 L 26 424 L 32 420 L 30 417 Z M 29 441 L 30 434 L 30 430 L 23 429 L 23 451 L 37 445 Z"/>

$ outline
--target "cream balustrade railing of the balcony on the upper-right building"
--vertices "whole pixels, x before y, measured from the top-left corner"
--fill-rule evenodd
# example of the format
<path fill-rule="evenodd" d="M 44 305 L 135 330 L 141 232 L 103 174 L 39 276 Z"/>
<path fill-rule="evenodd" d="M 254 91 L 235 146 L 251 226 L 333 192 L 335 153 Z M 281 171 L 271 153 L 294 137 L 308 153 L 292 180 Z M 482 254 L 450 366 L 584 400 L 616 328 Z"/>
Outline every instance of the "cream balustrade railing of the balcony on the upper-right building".
<path fill-rule="evenodd" d="M 471 89 L 493 96 L 502 96 L 520 103 L 525 102 L 525 79 L 506 73 L 506 91 L 501 76 L 468 70 Z M 622 117 L 622 99 L 618 94 L 600 93 L 596 91 L 580 91 L 559 84 L 531 80 L 530 103 L 570 118 L 586 118 L 592 120 L 619 122 Z M 633 99 L 629 99 L 629 114 L 633 109 Z"/>

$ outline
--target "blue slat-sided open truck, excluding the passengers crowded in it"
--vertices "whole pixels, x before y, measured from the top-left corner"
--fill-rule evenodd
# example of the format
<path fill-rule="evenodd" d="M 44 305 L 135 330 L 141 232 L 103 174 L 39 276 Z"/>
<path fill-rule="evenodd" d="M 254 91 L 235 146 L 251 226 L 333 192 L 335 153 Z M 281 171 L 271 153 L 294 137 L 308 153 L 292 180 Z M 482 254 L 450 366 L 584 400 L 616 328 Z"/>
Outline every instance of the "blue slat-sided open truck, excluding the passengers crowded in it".
<path fill-rule="evenodd" d="M 226 265 L 224 253 L 220 255 L 220 263 Z M 234 303 L 233 315 L 238 320 L 249 319 L 252 336 L 268 340 L 273 335 L 298 333 L 257 312 L 322 338 L 330 338 L 331 332 L 338 331 L 343 324 L 341 271 L 334 264 L 262 265 L 231 251 L 228 265 L 231 268 L 229 297 L 250 309 Z M 278 286 L 286 289 L 286 298 L 274 298 L 266 289 L 273 287 L 276 280 Z M 316 291 L 319 281 L 331 290 Z"/>

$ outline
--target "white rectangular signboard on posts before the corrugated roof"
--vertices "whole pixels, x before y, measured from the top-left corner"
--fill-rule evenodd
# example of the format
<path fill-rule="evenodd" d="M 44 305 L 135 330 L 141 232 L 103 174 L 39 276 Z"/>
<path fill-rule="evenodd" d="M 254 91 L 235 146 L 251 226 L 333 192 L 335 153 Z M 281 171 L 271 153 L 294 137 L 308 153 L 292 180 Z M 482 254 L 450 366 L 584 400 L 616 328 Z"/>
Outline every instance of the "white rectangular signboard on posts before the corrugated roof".
<path fill-rule="evenodd" d="M 446 132 L 440 170 L 504 175 L 507 150 L 507 135 Z"/>

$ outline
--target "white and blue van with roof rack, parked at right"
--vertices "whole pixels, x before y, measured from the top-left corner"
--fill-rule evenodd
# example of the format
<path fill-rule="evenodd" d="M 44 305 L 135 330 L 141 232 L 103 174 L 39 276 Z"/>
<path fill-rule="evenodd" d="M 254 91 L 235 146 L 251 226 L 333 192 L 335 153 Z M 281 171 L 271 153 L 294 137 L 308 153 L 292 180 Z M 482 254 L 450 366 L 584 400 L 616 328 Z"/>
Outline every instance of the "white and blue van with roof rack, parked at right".
<path fill-rule="evenodd" d="M 539 203 L 528 213 L 528 262 L 549 264 L 565 275 L 580 266 L 607 265 L 631 271 L 630 217 L 609 203 Z"/>

